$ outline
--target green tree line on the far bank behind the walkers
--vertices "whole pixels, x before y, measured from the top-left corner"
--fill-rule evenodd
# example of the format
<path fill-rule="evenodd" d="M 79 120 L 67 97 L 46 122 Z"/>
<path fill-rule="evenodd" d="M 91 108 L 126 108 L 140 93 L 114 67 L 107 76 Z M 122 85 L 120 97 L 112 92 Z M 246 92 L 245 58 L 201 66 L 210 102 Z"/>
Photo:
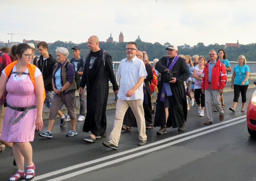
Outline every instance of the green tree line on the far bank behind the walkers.
<path fill-rule="evenodd" d="M 36 42 L 34 40 L 30 40 L 29 43 L 35 44 Z M 169 42 L 166 42 L 164 45 L 161 45 L 159 42 L 155 42 L 154 44 L 150 42 L 143 42 L 143 41 L 136 41 L 138 45 L 138 50 L 145 51 L 148 54 L 149 61 L 153 61 L 153 59 L 158 58 L 160 59 L 162 56 L 167 56 L 167 50 L 165 50 L 166 46 L 170 45 Z M 123 58 L 126 57 L 126 44 L 127 42 L 105 42 L 99 43 L 99 47 L 106 50 L 111 56 L 113 61 L 121 61 Z M 49 46 L 49 54 L 51 54 L 53 57 L 56 57 L 55 49 L 56 47 L 65 47 L 69 51 L 68 58 L 71 59 L 73 57 L 73 53 L 71 48 L 75 45 L 79 45 L 81 48 L 81 56 L 86 57 L 87 53 L 90 51 L 87 46 L 87 42 L 82 42 L 80 44 L 75 44 L 72 41 L 55 41 L 53 44 Z M 197 45 L 190 47 L 187 44 L 184 44 L 182 46 L 178 46 L 178 55 L 202 55 L 206 58 L 206 60 L 209 60 L 209 51 L 211 49 L 216 50 L 216 52 L 223 48 L 225 45 L 219 45 L 219 44 L 211 44 L 208 46 L 205 46 L 202 42 L 199 42 Z M 240 47 L 228 47 L 225 49 L 227 60 L 229 61 L 238 61 L 238 56 L 244 55 L 246 57 L 247 61 L 256 61 L 256 43 L 248 44 L 248 45 L 240 45 Z M 37 55 L 38 52 L 36 52 Z"/>

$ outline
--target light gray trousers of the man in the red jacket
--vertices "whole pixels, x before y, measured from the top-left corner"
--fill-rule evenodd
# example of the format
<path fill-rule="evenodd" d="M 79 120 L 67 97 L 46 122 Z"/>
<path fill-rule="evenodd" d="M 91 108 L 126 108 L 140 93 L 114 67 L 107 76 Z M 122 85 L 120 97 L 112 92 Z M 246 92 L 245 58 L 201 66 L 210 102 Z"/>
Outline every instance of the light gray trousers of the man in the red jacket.
<path fill-rule="evenodd" d="M 224 111 L 221 108 L 221 103 L 219 101 L 220 94 L 219 90 L 211 89 L 211 84 L 209 84 L 209 88 L 205 89 L 205 108 L 204 108 L 204 114 L 206 115 L 206 120 L 212 121 L 212 101 L 219 112 L 219 115 L 223 115 Z"/>

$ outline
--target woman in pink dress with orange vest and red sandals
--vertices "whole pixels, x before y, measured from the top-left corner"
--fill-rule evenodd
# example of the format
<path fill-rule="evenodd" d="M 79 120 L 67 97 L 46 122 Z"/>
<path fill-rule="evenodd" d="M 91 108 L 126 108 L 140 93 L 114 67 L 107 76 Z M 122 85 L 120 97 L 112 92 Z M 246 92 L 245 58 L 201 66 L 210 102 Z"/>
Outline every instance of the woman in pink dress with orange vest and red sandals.
<path fill-rule="evenodd" d="M 5 89 L 8 91 L 1 140 L 13 143 L 13 155 L 18 167 L 9 180 L 32 180 L 35 164 L 29 142 L 34 140 L 35 128 L 40 131 L 43 127 L 44 82 L 40 70 L 30 64 L 33 54 L 29 45 L 17 45 L 15 54 L 18 60 L 8 65 L 0 78 L 0 95 Z M 31 79 L 30 73 L 34 78 Z M 26 173 L 24 160 L 27 163 Z"/>

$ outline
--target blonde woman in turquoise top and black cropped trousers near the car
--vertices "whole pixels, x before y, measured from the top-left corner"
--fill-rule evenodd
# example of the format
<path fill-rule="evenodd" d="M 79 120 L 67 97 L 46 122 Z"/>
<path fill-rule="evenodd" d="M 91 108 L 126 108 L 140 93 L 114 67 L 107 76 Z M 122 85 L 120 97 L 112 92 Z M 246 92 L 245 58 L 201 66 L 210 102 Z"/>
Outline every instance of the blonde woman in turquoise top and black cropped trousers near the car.
<path fill-rule="evenodd" d="M 231 88 L 234 88 L 234 100 L 233 107 L 229 108 L 229 110 L 235 112 L 236 105 L 238 103 L 238 99 L 241 92 L 242 97 L 242 108 L 241 111 L 244 111 L 244 107 L 246 104 L 246 92 L 249 86 L 249 75 L 250 69 L 249 66 L 246 65 L 246 58 L 243 55 L 238 57 L 238 65 L 234 66 L 234 72 L 231 79 Z"/>

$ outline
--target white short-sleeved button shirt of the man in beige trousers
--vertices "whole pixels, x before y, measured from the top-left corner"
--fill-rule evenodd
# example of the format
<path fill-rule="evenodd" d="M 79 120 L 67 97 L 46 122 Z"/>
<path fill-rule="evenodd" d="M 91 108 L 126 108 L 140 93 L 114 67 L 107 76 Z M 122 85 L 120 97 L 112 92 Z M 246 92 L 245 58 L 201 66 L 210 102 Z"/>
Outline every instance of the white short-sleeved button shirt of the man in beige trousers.
<path fill-rule="evenodd" d="M 140 77 L 144 76 L 144 79 L 148 75 L 144 62 L 137 58 L 133 57 L 130 62 L 127 58 L 121 60 L 117 73 L 121 76 L 120 79 L 120 89 L 118 92 L 118 99 L 121 100 L 142 100 L 144 99 L 143 94 L 143 83 L 139 88 L 134 92 L 131 97 L 126 97 L 127 91 L 134 87 Z"/>

